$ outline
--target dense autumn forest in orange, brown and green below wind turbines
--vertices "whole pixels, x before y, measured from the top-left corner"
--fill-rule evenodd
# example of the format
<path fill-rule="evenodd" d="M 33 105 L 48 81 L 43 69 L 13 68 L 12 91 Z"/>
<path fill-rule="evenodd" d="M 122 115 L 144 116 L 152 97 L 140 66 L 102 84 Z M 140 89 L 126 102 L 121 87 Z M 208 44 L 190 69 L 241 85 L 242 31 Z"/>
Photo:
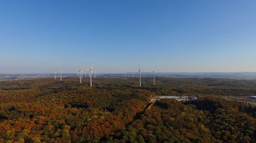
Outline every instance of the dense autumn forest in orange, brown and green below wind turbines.
<path fill-rule="evenodd" d="M 0 142 L 256 142 L 255 80 L 157 77 L 0 82 Z M 157 100 L 159 95 L 198 96 Z M 146 109 L 147 108 L 147 109 Z"/>

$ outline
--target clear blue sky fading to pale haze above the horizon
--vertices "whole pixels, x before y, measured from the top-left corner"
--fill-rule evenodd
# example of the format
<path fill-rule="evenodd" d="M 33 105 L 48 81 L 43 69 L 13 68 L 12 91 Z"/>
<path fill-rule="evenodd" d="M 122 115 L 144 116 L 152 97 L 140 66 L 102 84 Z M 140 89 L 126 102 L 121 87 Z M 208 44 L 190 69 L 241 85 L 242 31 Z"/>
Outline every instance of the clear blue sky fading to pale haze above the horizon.
<path fill-rule="evenodd" d="M 0 73 L 256 71 L 256 1 L 0 1 Z"/>

